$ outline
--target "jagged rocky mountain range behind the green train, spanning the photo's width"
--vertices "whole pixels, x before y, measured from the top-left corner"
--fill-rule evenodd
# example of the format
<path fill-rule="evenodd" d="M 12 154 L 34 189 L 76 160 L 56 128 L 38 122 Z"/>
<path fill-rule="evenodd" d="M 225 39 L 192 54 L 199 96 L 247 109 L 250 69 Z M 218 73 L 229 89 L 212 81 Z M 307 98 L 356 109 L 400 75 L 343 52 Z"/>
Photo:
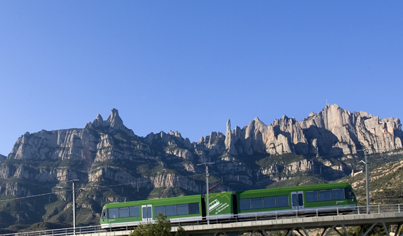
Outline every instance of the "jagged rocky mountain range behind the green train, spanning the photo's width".
<path fill-rule="evenodd" d="M 323 180 L 306 176 L 346 176 L 356 169 L 360 150 L 399 152 L 402 139 L 399 119 L 381 120 L 337 105 L 310 113 L 301 122 L 283 116 L 265 125 L 254 118 L 231 130 L 228 120 L 225 135 L 211 132 L 193 143 L 172 131 L 138 137 L 113 109 L 107 120 L 97 115 L 83 129 L 23 134 L 8 157 L 0 155 L 0 199 L 57 192 L 41 210 L 32 202 L 20 202 L 20 207 L 30 207 L 36 218 L 46 221 L 68 221 L 71 192 L 66 181 L 79 179 L 77 188 L 83 191 L 78 204 L 93 212 L 90 220 L 83 220 L 90 224 L 97 222 L 105 202 L 203 194 L 205 167 L 199 163 L 214 162 L 210 182 L 219 184 L 212 191 L 266 188 L 286 181 L 317 183 Z M 59 208 L 50 207 L 56 205 Z M 0 211 L 8 211 L 5 206 L 0 203 Z M 32 223 L 22 213 L 14 222 Z"/>

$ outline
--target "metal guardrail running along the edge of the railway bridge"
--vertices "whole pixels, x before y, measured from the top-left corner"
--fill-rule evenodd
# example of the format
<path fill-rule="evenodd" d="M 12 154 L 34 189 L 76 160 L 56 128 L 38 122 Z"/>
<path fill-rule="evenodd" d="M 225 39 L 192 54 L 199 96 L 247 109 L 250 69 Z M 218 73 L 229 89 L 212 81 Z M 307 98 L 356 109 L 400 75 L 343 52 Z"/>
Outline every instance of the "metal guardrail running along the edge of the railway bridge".
<path fill-rule="evenodd" d="M 367 211 L 367 209 L 369 211 Z M 219 216 L 210 216 L 210 224 L 214 223 L 229 223 L 234 221 L 263 221 L 263 220 L 274 220 L 279 218 L 299 218 L 299 217 L 319 217 L 319 216 L 335 216 L 341 214 L 381 214 L 390 212 L 403 212 L 403 204 L 379 204 L 367 206 L 357 206 L 357 207 L 329 207 L 322 209 L 305 209 L 301 211 L 260 211 L 251 214 L 242 214 L 241 217 L 231 217 L 231 218 L 220 218 Z M 187 218 L 191 220 L 191 218 Z M 207 219 L 200 221 L 200 217 L 194 218 L 194 221 L 184 222 L 184 223 L 173 223 L 172 225 L 200 225 L 207 224 Z M 122 225 L 118 230 L 132 230 L 135 226 Z M 62 228 L 57 230 L 39 230 L 31 232 L 18 232 L 13 234 L 6 234 L 0 236 L 62 236 L 62 235 L 83 235 L 95 232 L 110 232 L 116 231 L 116 229 L 102 229 L 100 225 L 95 226 L 84 226 L 76 228 Z"/>

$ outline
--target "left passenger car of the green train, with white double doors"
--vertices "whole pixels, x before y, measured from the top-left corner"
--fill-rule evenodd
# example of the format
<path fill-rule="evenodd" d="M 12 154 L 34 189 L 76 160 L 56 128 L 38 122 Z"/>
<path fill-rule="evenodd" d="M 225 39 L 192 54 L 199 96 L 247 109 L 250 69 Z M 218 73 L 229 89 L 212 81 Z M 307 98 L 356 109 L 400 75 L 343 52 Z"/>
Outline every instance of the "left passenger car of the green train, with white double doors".
<path fill-rule="evenodd" d="M 202 219 L 202 204 L 204 207 L 201 195 L 109 203 L 104 205 L 100 225 L 102 228 L 118 228 L 153 222 L 158 212 L 171 222 L 198 221 Z"/>

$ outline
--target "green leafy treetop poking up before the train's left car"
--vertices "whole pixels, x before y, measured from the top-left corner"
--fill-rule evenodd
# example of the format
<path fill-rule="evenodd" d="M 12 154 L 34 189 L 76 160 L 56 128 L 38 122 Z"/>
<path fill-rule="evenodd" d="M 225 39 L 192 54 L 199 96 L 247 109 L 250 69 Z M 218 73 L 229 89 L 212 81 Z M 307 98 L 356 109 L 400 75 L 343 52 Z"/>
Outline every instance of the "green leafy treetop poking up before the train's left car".
<path fill-rule="evenodd" d="M 158 212 L 155 223 L 140 223 L 129 236 L 172 236 L 170 220 Z M 175 236 L 187 235 L 184 228 L 179 227 Z"/>

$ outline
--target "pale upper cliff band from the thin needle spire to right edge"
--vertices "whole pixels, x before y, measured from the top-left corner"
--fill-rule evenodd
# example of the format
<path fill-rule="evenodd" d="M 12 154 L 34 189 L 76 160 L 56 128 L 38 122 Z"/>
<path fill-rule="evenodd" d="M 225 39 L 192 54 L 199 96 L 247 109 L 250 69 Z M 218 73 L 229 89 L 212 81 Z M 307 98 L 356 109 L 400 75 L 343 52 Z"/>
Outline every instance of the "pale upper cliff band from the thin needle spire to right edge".
<path fill-rule="evenodd" d="M 368 113 L 345 111 L 336 104 L 298 123 L 283 116 L 271 125 L 259 118 L 231 132 L 229 120 L 226 131 L 226 151 L 231 155 L 245 153 L 284 153 L 349 155 L 366 149 L 381 153 L 402 148 L 402 125 L 398 118 L 385 118 Z M 231 133 L 231 135 L 230 135 Z M 237 145 L 235 145 L 237 144 Z M 236 148 L 236 152 L 233 149 Z"/>

